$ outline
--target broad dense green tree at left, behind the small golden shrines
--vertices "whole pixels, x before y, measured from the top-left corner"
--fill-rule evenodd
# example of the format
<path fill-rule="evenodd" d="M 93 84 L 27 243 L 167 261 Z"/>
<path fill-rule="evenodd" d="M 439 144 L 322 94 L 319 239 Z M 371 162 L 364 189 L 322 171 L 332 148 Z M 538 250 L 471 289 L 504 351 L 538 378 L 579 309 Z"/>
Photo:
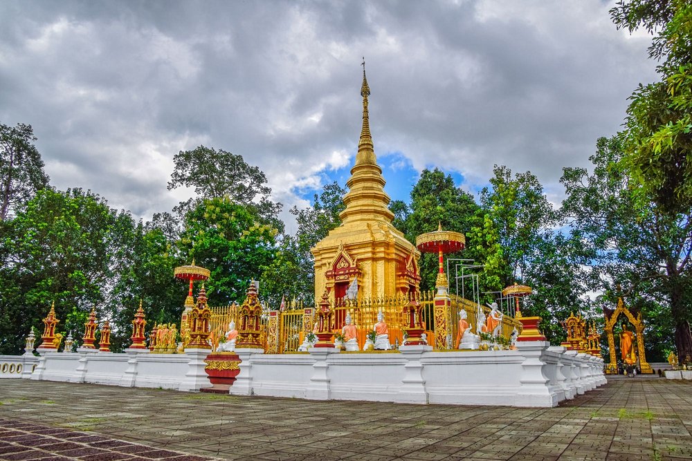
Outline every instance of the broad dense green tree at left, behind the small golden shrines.
<path fill-rule="evenodd" d="M 104 199 L 81 189 L 42 189 L 6 223 L 0 242 L 0 350 L 17 353 L 21 336 L 55 301 L 62 332 L 81 337 L 83 319 L 93 306 L 109 317 L 119 238 L 116 229 L 129 214 L 110 209 Z"/>

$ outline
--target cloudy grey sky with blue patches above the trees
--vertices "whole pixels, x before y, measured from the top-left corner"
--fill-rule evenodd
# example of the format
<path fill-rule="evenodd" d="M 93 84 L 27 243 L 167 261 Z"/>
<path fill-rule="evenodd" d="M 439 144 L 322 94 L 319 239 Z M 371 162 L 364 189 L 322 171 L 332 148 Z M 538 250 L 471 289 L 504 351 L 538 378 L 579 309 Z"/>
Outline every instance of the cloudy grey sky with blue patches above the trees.
<path fill-rule="evenodd" d="M 493 164 L 530 170 L 558 202 L 639 82 L 650 37 L 610 1 L 0 2 L 0 122 L 33 125 L 58 189 L 150 218 L 172 158 L 203 144 L 262 169 L 307 206 L 349 177 L 362 57 L 375 152 L 392 198 L 440 167 L 476 192 Z M 289 223 L 289 230 L 291 224 Z M 295 229 L 292 229 L 295 230 Z"/>

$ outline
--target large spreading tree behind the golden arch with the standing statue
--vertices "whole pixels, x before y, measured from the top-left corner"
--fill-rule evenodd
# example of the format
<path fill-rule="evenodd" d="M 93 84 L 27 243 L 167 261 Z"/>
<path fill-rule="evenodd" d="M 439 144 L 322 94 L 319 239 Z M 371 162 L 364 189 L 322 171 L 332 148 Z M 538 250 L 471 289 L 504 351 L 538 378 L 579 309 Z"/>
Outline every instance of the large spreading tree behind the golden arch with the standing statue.
<path fill-rule="evenodd" d="M 590 267 L 585 280 L 590 290 L 604 293 L 601 302 L 614 303 L 625 294 L 626 302 L 644 313 L 657 359 L 671 345 L 673 329 L 680 356 L 692 356 L 691 215 L 671 214 L 653 199 L 643 203 L 639 183 L 618 167 L 624 155 L 619 137 L 600 138 L 590 158 L 593 173 L 564 169 L 563 214 Z"/>

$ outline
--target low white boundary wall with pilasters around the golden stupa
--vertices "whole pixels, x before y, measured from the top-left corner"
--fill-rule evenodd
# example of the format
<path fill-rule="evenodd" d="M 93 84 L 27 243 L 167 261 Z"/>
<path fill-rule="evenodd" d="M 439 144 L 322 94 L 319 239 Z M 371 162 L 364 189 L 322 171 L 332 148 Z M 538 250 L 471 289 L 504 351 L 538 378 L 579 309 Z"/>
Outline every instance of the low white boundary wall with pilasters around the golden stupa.
<path fill-rule="evenodd" d="M 37 366 L 30 378 L 179 391 L 211 386 L 203 361 L 209 350 L 148 352 L 45 352 L 31 357 Z M 401 346 L 398 353 L 339 353 L 331 348 L 284 355 L 254 349 L 237 353 L 242 362 L 230 387 L 233 395 L 549 407 L 606 382 L 603 359 L 545 341 L 496 351 L 432 352 L 429 346 Z"/>

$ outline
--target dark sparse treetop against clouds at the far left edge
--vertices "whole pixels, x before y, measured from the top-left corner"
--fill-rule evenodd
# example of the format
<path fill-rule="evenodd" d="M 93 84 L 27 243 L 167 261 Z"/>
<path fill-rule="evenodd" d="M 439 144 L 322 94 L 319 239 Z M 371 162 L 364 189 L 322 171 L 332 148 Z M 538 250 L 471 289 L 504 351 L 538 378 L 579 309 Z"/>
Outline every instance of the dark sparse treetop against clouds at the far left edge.
<path fill-rule="evenodd" d="M 48 185 L 31 125 L 0 124 L 0 221 Z"/>

